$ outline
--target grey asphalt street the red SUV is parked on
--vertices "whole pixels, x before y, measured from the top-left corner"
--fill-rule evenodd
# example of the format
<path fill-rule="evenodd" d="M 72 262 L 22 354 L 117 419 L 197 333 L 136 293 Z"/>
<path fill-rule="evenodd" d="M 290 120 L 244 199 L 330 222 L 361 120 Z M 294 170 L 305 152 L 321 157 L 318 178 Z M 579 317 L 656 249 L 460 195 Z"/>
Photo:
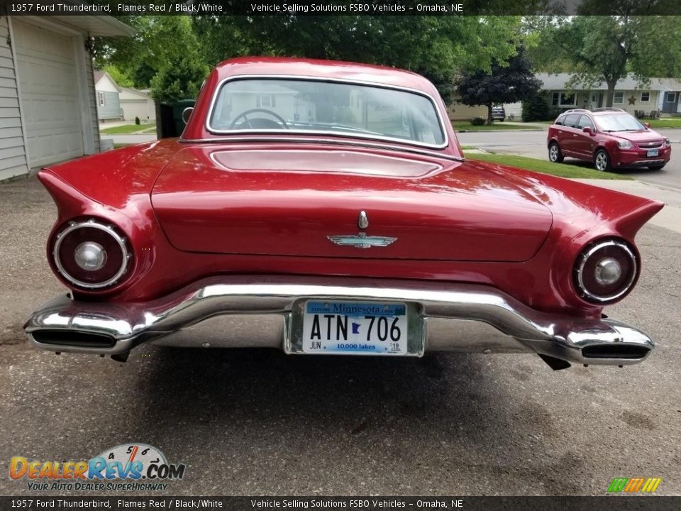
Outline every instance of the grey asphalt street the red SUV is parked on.
<path fill-rule="evenodd" d="M 681 129 L 660 129 L 660 135 L 672 141 L 672 159 L 662 170 L 619 169 L 616 172 L 635 177 L 651 185 L 681 189 Z M 494 153 L 508 153 L 548 161 L 546 131 L 470 131 L 457 133 L 461 145 L 474 145 Z M 591 167 L 579 160 L 565 158 L 565 163 Z"/>

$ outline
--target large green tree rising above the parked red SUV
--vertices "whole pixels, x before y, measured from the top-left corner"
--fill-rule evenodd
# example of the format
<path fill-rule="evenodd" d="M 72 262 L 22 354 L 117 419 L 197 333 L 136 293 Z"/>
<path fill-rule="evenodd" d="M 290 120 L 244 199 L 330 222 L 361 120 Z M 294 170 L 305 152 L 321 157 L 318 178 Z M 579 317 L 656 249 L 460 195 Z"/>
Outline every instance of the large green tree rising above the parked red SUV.
<path fill-rule="evenodd" d="M 536 67 L 571 72 L 572 87 L 605 82 L 607 106 L 617 82 L 629 73 L 641 86 L 651 77 L 680 74 L 681 17 L 630 16 L 627 1 L 621 4 L 621 16 L 547 18 L 532 52 Z"/>

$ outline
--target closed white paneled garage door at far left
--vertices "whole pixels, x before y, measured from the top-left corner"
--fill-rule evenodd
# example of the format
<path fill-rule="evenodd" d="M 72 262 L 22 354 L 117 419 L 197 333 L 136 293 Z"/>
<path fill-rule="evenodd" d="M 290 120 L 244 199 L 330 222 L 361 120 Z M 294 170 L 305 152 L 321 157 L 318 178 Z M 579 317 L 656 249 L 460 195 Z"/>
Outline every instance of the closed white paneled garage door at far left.
<path fill-rule="evenodd" d="M 82 156 L 83 136 L 73 40 L 12 20 L 28 165 Z"/>

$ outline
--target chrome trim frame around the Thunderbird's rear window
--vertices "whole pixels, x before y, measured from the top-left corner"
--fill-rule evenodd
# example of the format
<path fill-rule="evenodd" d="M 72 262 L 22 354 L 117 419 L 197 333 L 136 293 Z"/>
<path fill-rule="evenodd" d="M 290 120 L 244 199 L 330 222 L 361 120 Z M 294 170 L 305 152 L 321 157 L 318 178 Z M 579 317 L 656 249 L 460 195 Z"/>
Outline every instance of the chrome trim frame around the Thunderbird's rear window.
<path fill-rule="evenodd" d="M 431 96 L 431 94 L 428 94 L 427 92 L 423 92 L 419 89 L 411 89 L 410 87 L 400 87 L 399 85 L 388 85 L 388 84 L 382 84 L 382 83 L 377 83 L 377 82 L 368 82 L 365 80 L 358 80 L 358 79 L 343 79 L 343 78 L 327 78 L 327 77 L 315 77 L 315 76 L 306 76 L 306 75 L 233 75 L 229 76 L 226 78 L 221 79 L 220 82 L 215 87 L 215 92 L 213 93 L 213 97 L 211 97 L 211 104 L 208 109 L 208 114 L 206 115 L 206 122 L 204 123 L 204 126 L 206 128 L 206 131 L 209 133 L 214 133 L 217 135 L 230 135 L 232 133 L 272 133 L 272 130 L 254 130 L 254 129 L 248 129 L 248 130 L 221 130 L 217 128 L 213 128 L 211 126 L 211 118 L 213 117 L 213 111 L 215 108 L 215 104 L 217 102 L 218 96 L 223 88 L 223 86 L 227 82 L 233 82 L 236 80 L 243 80 L 243 79 L 280 79 L 280 80 L 306 80 L 309 82 L 330 82 L 330 83 L 342 83 L 342 84 L 355 84 L 355 85 L 363 85 L 365 87 L 377 87 L 379 89 L 392 89 L 392 90 L 397 90 L 397 91 L 404 91 L 404 92 L 410 92 L 411 94 L 418 94 L 421 97 L 425 97 L 426 99 L 431 101 L 431 104 L 433 105 L 433 108 L 436 111 L 436 114 L 438 116 L 438 121 L 440 123 L 440 130 L 442 131 L 443 135 L 443 143 L 441 144 L 428 144 L 428 143 L 420 143 L 419 141 L 409 141 L 405 140 L 404 138 L 393 138 L 393 137 L 387 137 L 387 136 L 371 136 L 366 133 L 343 133 L 343 132 L 337 132 L 337 131 L 323 131 L 323 130 L 314 130 L 314 131 L 306 131 L 306 130 L 286 130 L 289 133 L 296 133 L 296 134 L 305 134 L 309 133 L 312 136 L 315 135 L 331 135 L 331 136 L 340 136 L 340 137 L 350 137 L 350 138 L 367 138 L 370 140 L 384 140 L 384 141 L 390 141 L 390 142 L 399 142 L 399 143 L 404 143 L 407 145 L 416 145 L 419 147 L 425 147 L 425 148 L 435 148 L 435 149 L 443 149 L 449 145 L 449 136 L 447 133 L 447 130 L 445 128 L 445 123 L 443 121 L 443 116 L 442 112 L 440 111 L 440 107 L 438 105 L 438 102 Z M 275 130 L 275 133 L 278 133 L 281 130 Z"/>

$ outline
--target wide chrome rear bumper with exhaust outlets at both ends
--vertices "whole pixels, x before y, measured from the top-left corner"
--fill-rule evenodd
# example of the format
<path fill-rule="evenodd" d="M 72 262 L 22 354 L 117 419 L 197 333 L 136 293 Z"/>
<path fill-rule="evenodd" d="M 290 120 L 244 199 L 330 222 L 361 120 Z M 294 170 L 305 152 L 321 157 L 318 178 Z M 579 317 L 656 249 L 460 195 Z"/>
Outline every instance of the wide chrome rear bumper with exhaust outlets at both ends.
<path fill-rule="evenodd" d="M 133 304 L 63 295 L 33 313 L 24 329 L 35 346 L 50 351 L 117 355 L 150 341 L 297 353 L 292 311 L 309 298 L 414 304 L 426 351 L 538 353 L 573 363 L 625 365 L 643 361 L 655 346 L 626 324 L 538 312 L 494 287 L 352 278 L 211 278 Z"/>

